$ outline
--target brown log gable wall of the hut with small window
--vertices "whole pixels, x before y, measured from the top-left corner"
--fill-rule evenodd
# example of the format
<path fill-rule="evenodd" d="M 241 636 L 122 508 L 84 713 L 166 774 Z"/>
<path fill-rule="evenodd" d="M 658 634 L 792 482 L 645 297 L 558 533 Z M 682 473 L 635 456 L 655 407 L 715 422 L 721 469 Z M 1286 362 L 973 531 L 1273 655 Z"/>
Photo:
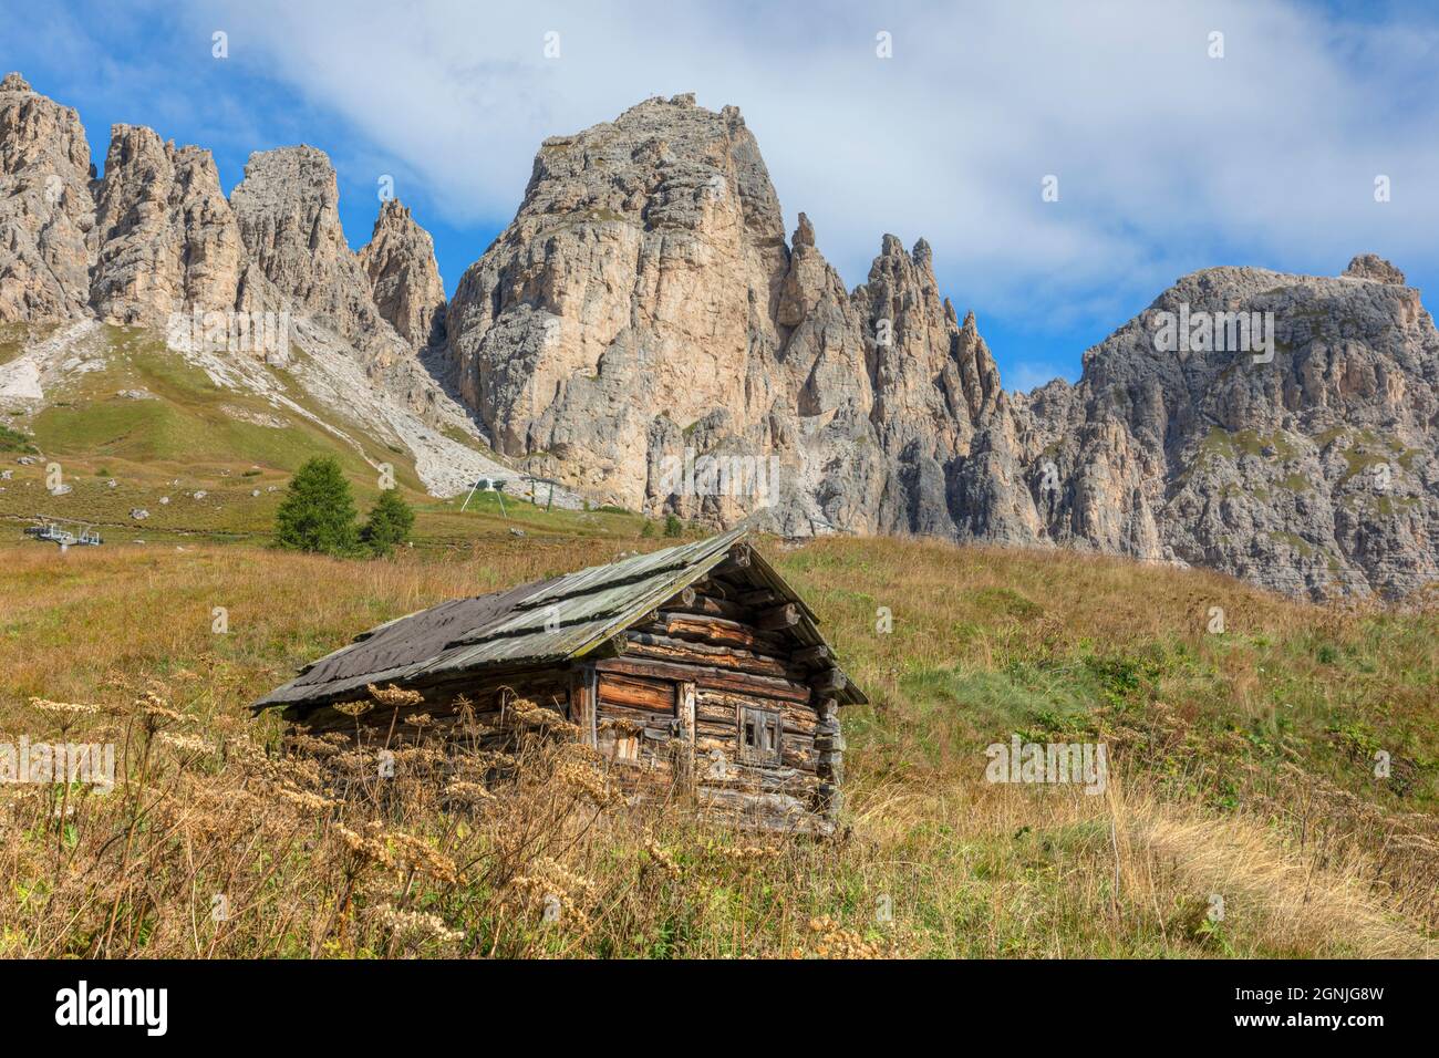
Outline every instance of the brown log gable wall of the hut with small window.
<path fill-rule="evenodd" d="M 829 654 L 800 649 L 794 623 L 784 600 L 721 574 L 632 625 L 623 654 L 583 666 L 612 773 L 737 822 L 829 832 L 843 750 Z"/>

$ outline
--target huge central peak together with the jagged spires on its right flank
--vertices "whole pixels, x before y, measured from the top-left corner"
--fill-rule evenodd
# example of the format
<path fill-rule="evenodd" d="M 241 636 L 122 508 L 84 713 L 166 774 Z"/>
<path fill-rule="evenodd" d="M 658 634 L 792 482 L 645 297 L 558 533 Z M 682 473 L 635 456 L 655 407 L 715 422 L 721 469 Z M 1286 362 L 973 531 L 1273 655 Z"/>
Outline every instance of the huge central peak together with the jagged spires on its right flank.
<path fill-rule="evenodd" d="M 886 238 L 855 294 L 778 200 L 734 108 L 650 99 L 553 137 L 514 223 L 448 309 L 496 448 L 599 498 L 781 528 L 953 528 L 944 465 L 1002 394 L 922 242 Z M 872 451 L 865 451 L 866 446 Z M 672 488 L 686 449 L 777 459 L 770 489 Z"/>

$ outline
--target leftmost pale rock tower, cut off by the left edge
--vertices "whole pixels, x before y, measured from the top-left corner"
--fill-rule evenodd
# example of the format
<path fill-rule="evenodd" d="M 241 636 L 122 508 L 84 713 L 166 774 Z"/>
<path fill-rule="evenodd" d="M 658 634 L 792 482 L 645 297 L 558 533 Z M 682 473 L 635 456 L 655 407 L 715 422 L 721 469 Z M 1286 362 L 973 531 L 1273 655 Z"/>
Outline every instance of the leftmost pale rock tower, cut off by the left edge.
<path fill-rule="evenodd" d="M 0 81 L 0 322 L 89 314 L 95 225 L 79 114 Z"/>

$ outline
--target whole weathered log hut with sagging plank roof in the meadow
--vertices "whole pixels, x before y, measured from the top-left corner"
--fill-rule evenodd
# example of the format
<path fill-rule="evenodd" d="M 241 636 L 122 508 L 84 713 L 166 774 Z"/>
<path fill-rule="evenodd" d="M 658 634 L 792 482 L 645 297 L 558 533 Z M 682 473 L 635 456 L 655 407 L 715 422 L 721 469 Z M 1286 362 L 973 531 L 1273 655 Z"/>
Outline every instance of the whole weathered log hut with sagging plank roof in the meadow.
<path fill-rule="evenodd" d="M 255 708 L 342 730 L 354 721 L 334 707 L 370 684 L 417 691 L 410 708 L 436 720 L 460 697 L 482 723 L 527 698 L 578 725 L 636 796 L 812 833 L 840 806 L 839 707 L 866 701 L 743 527 L 399 618 Z"/>

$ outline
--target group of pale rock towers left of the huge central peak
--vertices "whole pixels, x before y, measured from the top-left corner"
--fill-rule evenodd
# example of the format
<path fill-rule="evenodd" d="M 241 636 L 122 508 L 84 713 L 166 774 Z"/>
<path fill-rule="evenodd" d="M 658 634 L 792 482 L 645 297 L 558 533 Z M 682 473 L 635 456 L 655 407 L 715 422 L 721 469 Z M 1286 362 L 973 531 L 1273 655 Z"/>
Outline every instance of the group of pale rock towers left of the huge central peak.
<path fill-rule="evenodd" d="M 425 422 L 476 432 L 417 356 L 443 286 L 429 236 L 391 206 L 361 256 L 322 151 L 256 153 L 226 200 L 209 151 L 137 125 L 112 128 L 95 178 L 79 115 L 17 73 L 0 82 L 0 322 L 177 325 L 193 341 L 212 312 L 288 314 Z"/>

